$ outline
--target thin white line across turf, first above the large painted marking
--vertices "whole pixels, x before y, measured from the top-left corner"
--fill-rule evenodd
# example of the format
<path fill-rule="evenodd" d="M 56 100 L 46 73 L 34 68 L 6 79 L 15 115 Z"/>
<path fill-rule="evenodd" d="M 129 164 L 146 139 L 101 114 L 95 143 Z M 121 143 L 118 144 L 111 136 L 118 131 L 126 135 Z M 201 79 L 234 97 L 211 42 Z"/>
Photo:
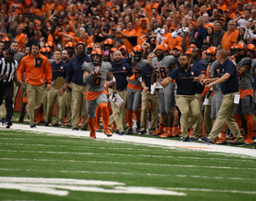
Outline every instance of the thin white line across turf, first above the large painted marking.
<path fill-rule="evenodd" d="M 21 171 L 21 172 L 53 172 L 53 173 L 76 173 L 76 174 L 101 174 L 101 175 L 143 175 L 143 176 L 174 176 L 174 177 L 190 177 L 190 178 L 202 178 L 202 179 L 223 179 L 223 180 L 240 180 L 240 181 L 256 181 L 252 178 L 240 178 L 240 177 L 222 177 L 222 176 L 202 176 L 202 175 L 167 175 L 167 174 L 143 174 L 143 173 L 118 173 L 118 172 L 101 172 L 101 171 L 70 171 L 70 170 L 35 170 L 35 169 L 9 169 L 0 168 L 1 171 Z"/>

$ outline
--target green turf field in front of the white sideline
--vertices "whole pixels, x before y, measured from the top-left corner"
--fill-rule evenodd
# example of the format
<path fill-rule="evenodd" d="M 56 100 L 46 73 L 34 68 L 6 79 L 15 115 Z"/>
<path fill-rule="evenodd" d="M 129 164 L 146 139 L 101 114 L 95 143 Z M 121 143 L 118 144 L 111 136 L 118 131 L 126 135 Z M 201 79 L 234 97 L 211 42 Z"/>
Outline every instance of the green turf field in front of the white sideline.
<path fill-rule="evenodd" d="M 0 200 L 255 200 L 255 158 L 112 139 L 14 133 L 5 129 L 0 129 L 0 133 L 0 176 L 115 181 L 187 194 L 149 196 L 69 191 L 68 196 L 50 196 L 0 188 Z M 177 187 L 186 189 L 176 190 Z M 231 193 L 232 190 L 241 192 Z"/>

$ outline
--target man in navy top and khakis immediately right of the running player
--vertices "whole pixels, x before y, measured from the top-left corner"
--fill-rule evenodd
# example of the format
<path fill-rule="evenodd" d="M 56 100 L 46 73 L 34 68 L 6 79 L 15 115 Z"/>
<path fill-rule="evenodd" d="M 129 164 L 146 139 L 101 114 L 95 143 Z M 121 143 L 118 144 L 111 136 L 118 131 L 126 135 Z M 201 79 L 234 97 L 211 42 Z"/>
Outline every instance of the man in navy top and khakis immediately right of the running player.
<path fill-rule="evenodd" d="M 117 50 L 113 53 L 114 60 L 111 62 L 112 64 L 112 74 L 116 79 L 116 92 L 123 99 L 123 104 L 120 108 L 117 108 L 112 104 L 112 116 L 110 116 L 110 124 L 113 122 L 117 125 L 117 130 L 120 135 L 123 135 L 124 125 L 125 125 L 125 103 L 126 103 L 126 87 L 127 80 L 130 80 L 129 77 L 133 75 L 133 69 L 129 64 L 123 61 L 122 52 Z M 109 95 L 111 96 L 113 93 L 113 89 L 111 87 L 111 82 L 107 82 L 107 86 L 109 86 Z"/>

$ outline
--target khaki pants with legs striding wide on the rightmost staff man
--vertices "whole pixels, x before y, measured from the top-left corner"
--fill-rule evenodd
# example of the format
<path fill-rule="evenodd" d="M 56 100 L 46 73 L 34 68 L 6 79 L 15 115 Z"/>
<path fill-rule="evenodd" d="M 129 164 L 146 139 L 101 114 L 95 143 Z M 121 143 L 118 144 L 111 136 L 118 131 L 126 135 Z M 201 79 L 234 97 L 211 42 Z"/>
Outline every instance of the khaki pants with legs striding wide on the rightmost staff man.
<path fill-rule="evenodd" d="M 234 120 L 234 108 L 237 105 L 234 103 L 234 97 L 237 93 L 228 93 L 223 95 L 223 100 L 218 112 L 216 121 L 213 124 L 213 127 L 208 134 L 208 139 L 211 142 L 215 142 L 216 137 L 219 135 L 219 132 L 222 129 L 223 124 L 226 122 L 229 126 L 230 132 L 234 135 L 235 141 L 237 143 L 244 143 L 243 136 L 240 134 L 240 128 Z"/>

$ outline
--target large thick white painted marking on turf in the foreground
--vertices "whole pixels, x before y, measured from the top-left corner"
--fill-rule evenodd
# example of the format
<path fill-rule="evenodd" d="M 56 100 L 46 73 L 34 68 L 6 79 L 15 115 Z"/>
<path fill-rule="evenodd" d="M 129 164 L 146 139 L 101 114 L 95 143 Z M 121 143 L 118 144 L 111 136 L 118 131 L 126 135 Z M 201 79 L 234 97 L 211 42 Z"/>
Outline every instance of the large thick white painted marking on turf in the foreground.
<path fill-rule="evenodd" d="M 101 192 L 112 194 L 143 194 L 159 196 L 187 196 L 182 192 L 156 187 L 127 186 L 124 183 L 101 180 L 0 177 L 0 188 L 16 189 L 23 192 L 41 193 L 55 196 L 68 196 L 69 191 Z M 59 190 L 64 189 L 64 190 Z"/>

